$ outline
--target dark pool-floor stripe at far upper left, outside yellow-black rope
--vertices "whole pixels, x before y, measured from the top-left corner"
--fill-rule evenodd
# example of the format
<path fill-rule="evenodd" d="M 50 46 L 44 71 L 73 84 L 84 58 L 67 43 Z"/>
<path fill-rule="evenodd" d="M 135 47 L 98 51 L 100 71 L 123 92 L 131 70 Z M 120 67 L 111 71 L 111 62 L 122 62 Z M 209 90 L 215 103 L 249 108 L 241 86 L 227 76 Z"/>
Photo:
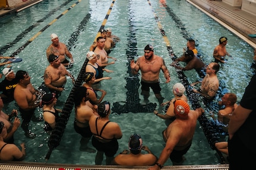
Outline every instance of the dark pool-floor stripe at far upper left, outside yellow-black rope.
<path fill-rule="evenodd" d="M 54 12 L 58 11 L 59 9 L 61 9 L 64 6 L 66 6 L 71 1 L 72 0 L 68 0 L 68 1 L 64 2 L 63 4 L 61 4 L 61 6 L 53 9 L 50 12 L 48 12 L 48 14 L 46 14 L 45 17 L 41 18 L 40 20 L 37 20 L 36 23 L 34 23 L 30 27 L 28 27 L 26 30 L 24 30 L 20 34 L 18 34 L 16 39 L 11 41 L 10 43 L 7 43 L 7 45 L 0 47 L 0 55 L 5 53 L 8 49 L 10 49 L 10 47 L 14 46 L 14 44 L 18 43 L 18 41 L 23 39 L 23 37 L 26 36 L 26 34 L 28 34 L 31 30 L 33 30 L 33 28 L 36 28 L 39 25 L 39 23 L 42 23 L 44 20 L 46 20 L 48 17 L 50 17 L 52 14 L 54 14 Z"/>

